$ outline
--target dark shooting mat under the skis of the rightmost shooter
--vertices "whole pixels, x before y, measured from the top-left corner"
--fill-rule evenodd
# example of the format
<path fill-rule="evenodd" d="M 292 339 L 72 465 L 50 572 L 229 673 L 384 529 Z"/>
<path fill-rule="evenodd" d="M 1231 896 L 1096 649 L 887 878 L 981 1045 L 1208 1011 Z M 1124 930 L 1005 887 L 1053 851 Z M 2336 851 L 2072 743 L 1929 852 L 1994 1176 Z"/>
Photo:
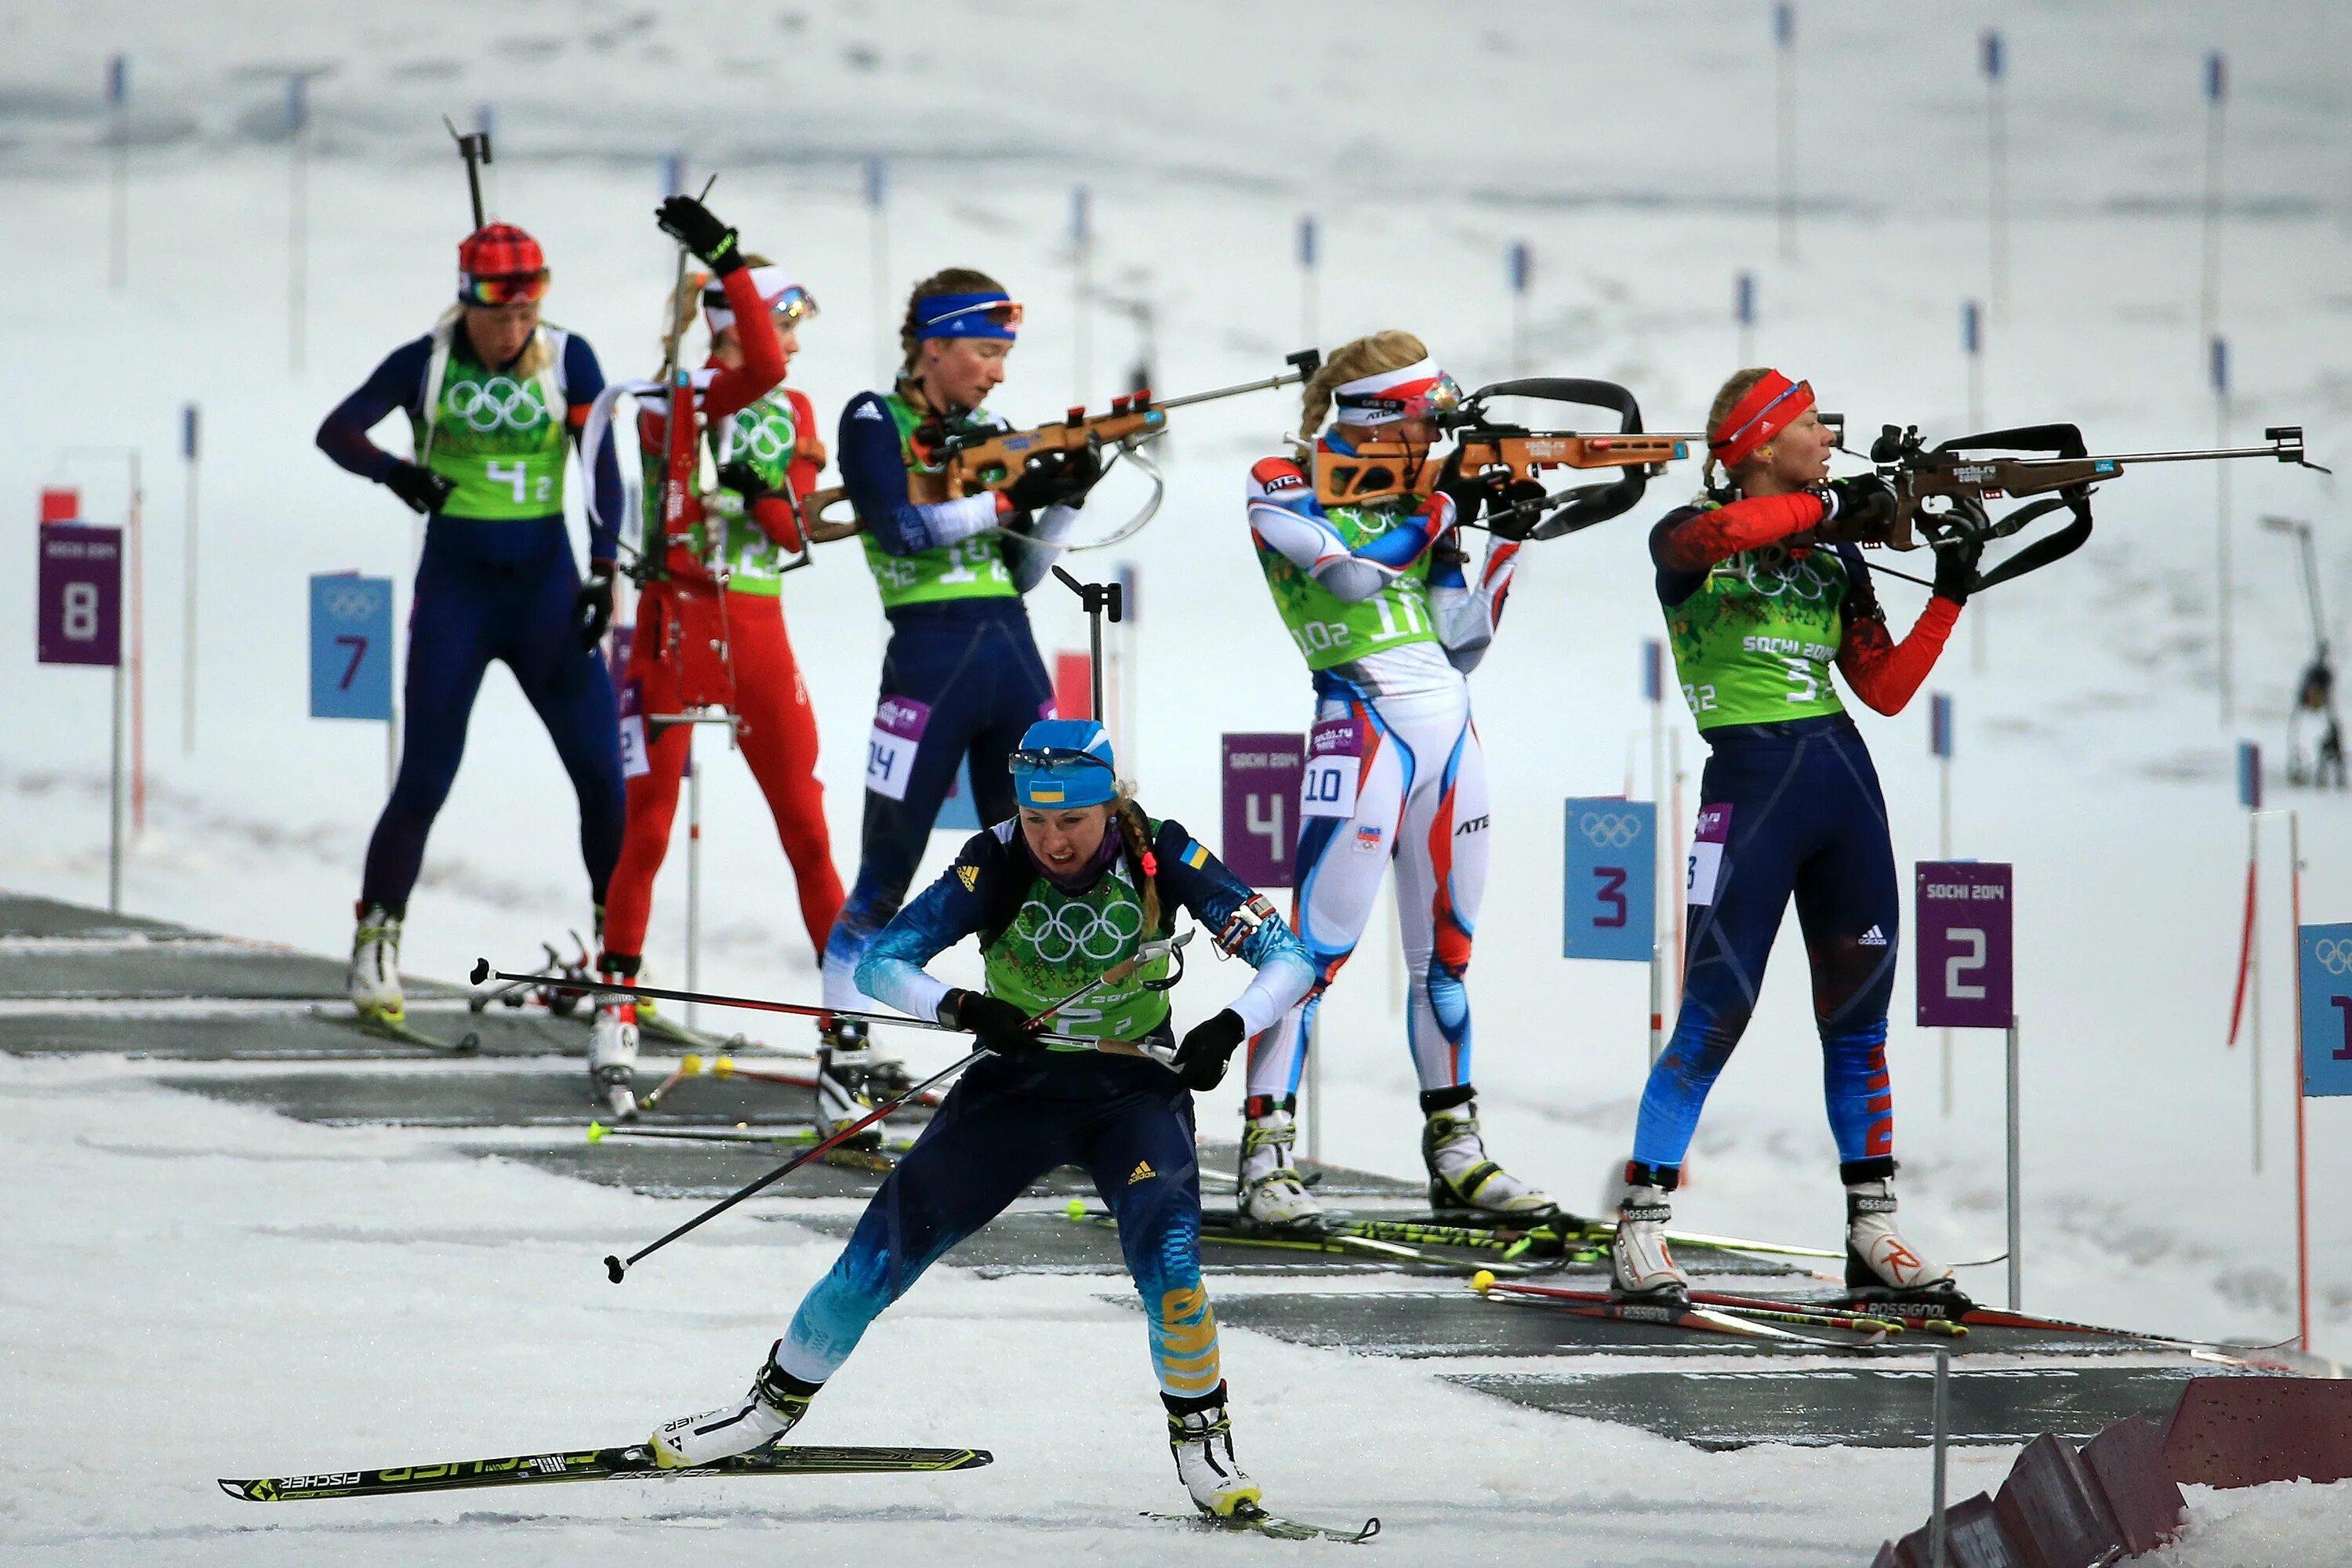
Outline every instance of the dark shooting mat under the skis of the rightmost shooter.
<path fill-rule="evenodd" d="M 1691 1253 L 1684 1267 L 1700 1272 Z M 1710 1255 L 1705 1272 L 1719 1272 Z M 1559 1281 L 1569 1288 L 1606 1288 L 1604 1267 L 1543 1274 L 1529 1284 Z M 1748 1284 L 1757 1291 L 1762 1286 Z M 1355 1349 L 1376 1356 L 1818 1356 L 1811 1345 L 1788 1345 L 1764 1338 L 1661 1328 L 1616 1319 L 1576 1316 L 1536 1300 L 1482 1300 L 1468 1286 L 1461 1291 L 1350 1291 L 1350 1293 L 1237 1293 L 1216 1298 L 1216 1316 L 1235 1328 L 1256 1328 L 1277 1340 L 1317 1349 Z M 1790 1324 L 1792 1333 L 1818 1333 Z M 2098 1359 L 2145 1354 L 2145 1340 L 2042 1328 L 1971 1328 L 1962 1340 L 1931 1338 L 1917 1328 L 1891 1335 L 1884 1354 L 1933 1354 L 1945 1347 L 1959 1356 L 2049 1354 Z"/>

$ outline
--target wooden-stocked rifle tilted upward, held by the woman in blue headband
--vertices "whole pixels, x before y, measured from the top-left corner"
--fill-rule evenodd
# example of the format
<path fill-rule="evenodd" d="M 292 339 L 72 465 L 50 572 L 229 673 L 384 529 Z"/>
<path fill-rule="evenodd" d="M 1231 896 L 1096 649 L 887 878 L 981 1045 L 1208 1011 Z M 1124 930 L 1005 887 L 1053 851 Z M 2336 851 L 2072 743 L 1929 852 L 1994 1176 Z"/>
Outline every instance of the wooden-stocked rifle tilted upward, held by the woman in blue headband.
<path fill-rule="evenodd" d="M 1141 449 L 1145 442 L 1167 435 L 1169 411 L 1188 409 L 1195 402 L 1216 402 L 1218 397 L 1240 397 L 1242 393 L 1268 393 L 1277 386 L 1296 386 L 1322 369 L 1322 350 L 1301 348 L 1294 355 L 1284 355 L 1284 364 L 1291 369 L 1279 376 L 1244 381 L 1240 386 L 1221 386 L 1214 393 L 1190 393 L 1185 397 L 1155 400 L 1150 388 L 1143 388 L 1124 397 L 1112 397 L 1108 414 L 1087 414 L 1084 407 L 1077 407 L 1054 423 L 1033 425 L 1028 430 L 993 430 L 988 425 L 957 428 L 955 423 L 948 423 L 920 454 L 927 458 L 927 465 L 910 475 L 915 484 L 915 501 L 955 501 L 960 496 L 974 496 L 983 489 L 1011 489 L 1014 480 L 1054 451 L 1091 449 L 1096 458 L 1103 461 L 1103 468 L 1120 456 L 1127 456 L 1136 468 L 1150 475 L 1152 498 L 1110 536 L 1089 538 L 1077 548 L 1094 550 L 1117 543 L 1150 522 L 1160 510 L 1164 482 L 1160 480 L 1160 470 L 1152 468 L 1150 458 L 1145 458 Z M 1105 451 L 1110 454 L 1108 458 L 1103 456 Z M 807 534 L 811 541 L 828 543 L 863 531 L 866 524 L 856 517 L 826 517 L 833 505 L 844 503 L 847 498 L 849 491 L 842 487 L 809 491 L 802 515 L 807 517 Z"/>

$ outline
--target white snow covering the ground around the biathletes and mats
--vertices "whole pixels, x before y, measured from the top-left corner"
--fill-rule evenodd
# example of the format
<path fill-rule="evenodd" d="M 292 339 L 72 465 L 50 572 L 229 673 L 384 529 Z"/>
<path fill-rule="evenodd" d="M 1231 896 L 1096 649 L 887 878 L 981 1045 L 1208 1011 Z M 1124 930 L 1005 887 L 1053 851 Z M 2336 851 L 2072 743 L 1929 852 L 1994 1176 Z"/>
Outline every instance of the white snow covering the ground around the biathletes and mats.
<path fill-rule="evenodd" d="M 858 160 L 880 150 L 891 155 L 887 294 L 962 261 L 1030 301 L 1002 397 L 1016 416 L 1101 400 L 1134 355 L 1134 329 L 1096 310 L 1091 362 L 1075 364 L 1063 235 L 1068 190 L 1089 181 L 1096 277 L 1152 301 L 1164 390 L 1270 374 L 1305 341 L 1291 247 L 1296 216 L 1315 212 L 1324 346 L 1406 324 L 1465 383 L 1505 374 L 1503 247 L 1524 237 L 1536 249 L 1526 362 L 1621 378 L 1651 425 L 1691 428 L 1738 360 L 1731 277 L 1752 268 L 1762 360 L 1809 374 L 1858 433 L 1919 421 L 1950 435 L 1966 421 L 1959 301 L 1985 294 L 1973 40 L 1999 24 L 2013 59 L 2016 228 L 2013 308 L 1994 322 L 1985 364 L 1987 423 L 2077 418 L 2093 449 L 2131 451 L 2216 435 L 2197 327 L 2194 92 L 2201 49 L 2230 38 L 2232 430 L 2300 421 L 2319 461 L 2352 458 L 2352 381 L 2338 369 L 2352 348 L 2340 282 L 2347 24 L 2336 7 L 2293 5 L 2277 7 L 2281 26 L 2225 28 L 2241 14 L 2150 14 L 2122 0 L 1943 7 L 1933 19 L 1802 7 L 1804 207 L 1785 261 L 1771 219 L 1771 49 L 1748 5 L 1484 5 L 1414 28 L 1237 2 L 1122 12 L 1115 26 L 1047 2 L 642 16 L 553 0 L 494 16 L 440 0 L 336 14 L 278 0 L 235 16 L 118 2 L 75 7 L 71 24 L 61 9 L 26 12 L 9 16 L 0 66 L 0 200 L 12 214 L 0 228 L 0 348 L 19 367 L 0 449 L 0 557 L 31 552 L 40 482 L 80 482 L 99 520 L 122 512 L 122 461 L 71 447 L 141 447 L 151 797 L 127 907 L 334 950 L 381 802 L 383 748 L 374 726 L 303 717 L 303 578 L 343 567 L 400 576 L 409 527 L 308 435 L 445 299 L 463 193 L 437 141 L 442 110 L 496 106 L 496 205 L 548 242 L 550 313 L 586 331 L 614 374 L 654 357 L 668 259 L 649 207 L 659 155 L 682 150 L 696 172 L 722 172 L 713 205 L 826 303 L 797 383 L 823 407 L 868 386 L 877 313 Z M 134 56 L 139 141 L 122 296 L 101 282 L 96 85 L 113 47 Z M 731 63 L 720 92 L 713 59 Z M 1007 75 L 976 61 L 1002 61 Z M 313 85 L 308 341 L 306 369 L 289 374 L 273 73 L 313 63 L 334 75 Z M 99 421 L 75 395 L 85 378 L 59 374 L 75 364 L 108 367 Z M 24 371 L 35 367 L 54 390 L 31 390 Z M 207 454 L 202 679 L 186 745 L 172 454 L 191 397 L 205 404 Z M 1141 574 L 1127 649 L 1141 738 L 1127 771 L 1155 811 L 1207 830 L 1216 733 L 1291 729 L 1305 715 L 1235 508 L 1242 465 L 1272 451 L 1294 416 L 1275 395 L 1183 416 L 1169 508 L 1115 552 Z M 1623 1159 L 1646 1001 L 1637 969 L 1557 957 L 1559 797 L 1621 790 L 1630 759 L 1646 757 L 1637 651 L 1658 621 L 1639 524 L 1689 484 L 1677 470 L 1635 517 L 1534 552 L 1477 677 L 1501 849 L 1475 980 L 1482 1112 L 1496 1152 L 1571 1204 L 1588 1204 Z M 2232 724 L 2218 722 L 2216 473 L 2133 475 L 2100 512 L 2079 559 L 1969 611 L 1987 628 L 1985 668 L 1971 668 L 1964 625 L 1933 682 L 1959 703 L 1955 851 L 2018 865 L 2027 1305 L 2279 1340 L 2293 1333 L 2284 849 L 2265 882 L 2256 1173 L 2253 1065 L 2244 1044 L 2223 1046 L 2246 839 L 2227 769 L 2239 736 L 2274 748 L 2307 654 L 2288 548 L 2253 520 L 2319 520 L 2328 588 L 2352 588 L 2331 534 L 2338 489 L 2277 465 L 2230 473 Z M 1886 597 L 1907 614 L 1917 590 L 1891 585 Z M 858 559 L 826 555 L 793 578 L 788 614 L 847 863 L 882 644 Z M 1065 599 L 1040 595 L 1033 614 L 1049 649 L 1080 646 Z M 0 884 L 101 903 L 106 682 L 35 668 L 31 616 L 31 592 L 0 599 Z M 1863 726 L 1898 856 L 1933 856 L 1924 703 Z M 1686 802 L 1698 755 L 1684 729 Z M 807 992 L 814 966 L 764 806 L 743 769 L 715 762 L 703 978 Z M 1649 790 L 1646 764 L 1632 785 Z M 2307 917 L 2345 917 L 2352 809 L 2340 797 L 2288 804 L 2303 806 Z M 513 682 L 492 675 L 412 907 L 409 966 L 456 976 L 477 952 L 529 959 L 567 926 L 586 926 L 569 804 Z M 680 978 L 682 858 L 661 886 L 654 952 Z M 1790 938 L 1710 1110 L 1679 1208 L 1693 1227 L 1835 1234 L 1799 964 Z M 1225 985 L 1202 966 L 1181 1009 L 1216 1006 Z M 1367 950 L 1327 1011 L 1322 1152 L 1411 1173 L 1416 1112 L 1390 985 L 1385 957 Z M 1907 1025 L 1910 1006 L 1903 985 L 1893 1060 L 1910 1227 L 1945 1255 L 1980 1258 L 2002 1234 L 1999 1041 L 1959 1039 L 1945 1119 L 1936 1037 Z M 929 1060 L 920 1044 L 910 1056 Z M 1129 1512 L 1167 1500 L 1124 1307 L 1084 1281 L 943 1274 L 844 1373 L 826 1436 L 993 1443 L 993 1472 L 670 1493 L 654 1500 L 654 1523 L 633 1493 L 223 1514 L 209 1490 L 223 1469 L 419 1446 L 513 1450 L 583 1427 L 628 1434 L 717 1396 L 741 1382 L 823 1248 L 779 1244 L 767 1227 L 680 1248 L 656 1316 L 581 1269 L 614 1237 L 675 1222 L 649 1199 L 449 1159 L 423 1135 L 198 1112 L 103 1065 L 12 1065 L 0 1093 L 40 1110 L 0 1133 L 0 1180 L 19 1194 L 31 1260 L 0 1274 L 0 1427 L 31 1455 L 26 1486 L 0 1495 L 0 1530 L 52 1556 L 111 1559 L 134 1544 L 162 1561 L 308 1561 L 322 1547 L 339 1559 L 536 1561 L 663 1523 L 713 1526 L 694 1544 L 748 1556 L 774 1547 L 760 1526 L 776 1521 L 795 1523 L 795 1542 L 823 1530 L 833 1556 L 901 1540 L 1035 1556 L 1035 1537 L 1011 1523 L 1040 1514 L 1054 1552 L 1080 1556 L 1134 1552 Z M 1232 1098 L 1204 1105 L 1204 1121 L 1230 1117 Z M 2336 1194 L 2352 1182 L 2352 1145 L 2343 1107 L 2314 1103 L 2310 1119 L 2314 1345 L 2345 1354 L 2352 1213 Z M 1997 1295 L 1997 1269 L 1976 1284 Z M 1228 1354 L 1247 1453 L 1279 1476 L 1279 1500 L 1381 1512 L 1432 1559 L 1557 1537 L 1569 1561 L 1860 1563 L 1924 1512 L 1919 1455 L 1710 1458 L 1512 1410 L 1411 1366 L 1244 1333 L 1228 1335 Z M 1329 1443 L 1350 1429 L 1411 1436 Z M 111 1486 L 106 1465 L 132 1458 L 167 1481 Z M 1966 1465 L 1983 1469 L 1962 1472 L 1973 1490 L 2006 1455 Z M 459 1519 L 529 1528 L 489 1544 Z M 896 1528 L 929 1519 L 1004 1528 Z"/>

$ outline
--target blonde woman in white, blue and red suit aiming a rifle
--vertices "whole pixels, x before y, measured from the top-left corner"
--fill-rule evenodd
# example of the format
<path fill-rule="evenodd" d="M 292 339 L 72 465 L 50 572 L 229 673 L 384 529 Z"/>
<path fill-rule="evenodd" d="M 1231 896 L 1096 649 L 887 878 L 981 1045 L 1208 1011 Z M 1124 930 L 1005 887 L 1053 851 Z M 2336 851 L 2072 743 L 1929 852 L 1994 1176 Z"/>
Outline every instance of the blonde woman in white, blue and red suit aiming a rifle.
<path fill-rule="evenodd" d="M 1275 609 L 1315 677 L 1308 799 L 1301 802 L 1291 924 L 1315 987 L 1249 1048 L 1240 1213 L 1310 1225 L 1322 1213 L 1291 1164 L 1305 1037 L 1322 992 L 1355 952 L 1397 867 L 1397 914 L 1411 999 L 1406 1041 L 1421 1077 L 1430 1204 L 1449 1213 L 1541 1215 L 1552 1199 L 1486 1159 L 1470 1084 L 1470 940 L 1486 891 L 1486 762 L 1470 724 L 1470 684 L 1503 614 L 1519 543 L 1494 538 L 1463 574 L 1463 522 L 1512 498 L 1446 463 L 1435 491 L 1324 508 L 1312 463 L 1364 442 L 1404 442 L 1430 461 L 1435 414 L 1461 400 L 1406 331 L 1357 339 L 1305 390 L 1296 458 L 1249 473 L 1249 531 Z M 1334 414 L 1322 440 L 1312 437 Z"/>

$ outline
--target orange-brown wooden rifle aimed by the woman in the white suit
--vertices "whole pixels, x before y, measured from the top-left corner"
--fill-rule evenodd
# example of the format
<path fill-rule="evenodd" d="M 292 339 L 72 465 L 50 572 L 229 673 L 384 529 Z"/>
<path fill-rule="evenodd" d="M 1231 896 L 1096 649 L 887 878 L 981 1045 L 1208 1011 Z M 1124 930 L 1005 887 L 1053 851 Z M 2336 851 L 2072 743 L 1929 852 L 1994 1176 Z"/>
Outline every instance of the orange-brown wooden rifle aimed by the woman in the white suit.
<path fill-rule="evenodd" d="M 1531 430 L 1494 418 L 1491 397 L 1536 397 L 1606 409 L 1618 416 L 1611 433 Z M 1489 512 L 1479 527 L 1501 517 L 1526 517 L 1526 538 L 1559 538 L 1595 522 L 1609 522 L 1642 501 L 1642 491 L 1668 463 L 1691 456 L 1703 435 L 1656 435 L 1642 430 L 1642 404 L 1613 381 L 1581 376 L 1524 376 L 1496 381 L 1470 393 L 1458 409 L 1437 414 L 1437 428 L 1454 435 L 1463 475 L 1484 475 L 1496 484 L 1536 480 L 1548 468 L 1616 468 L 1616 480 L 1576 484 L 1534 496 Z M 1362 505 L 1385 496 L 1428 496 L 1437 489 L 1442 465 L 1428 449 L 1404 442 L 1362 442 L 1355 454 L 1324 451 L 1315 458 L 1315 498 L 1324 505 Z"/>

